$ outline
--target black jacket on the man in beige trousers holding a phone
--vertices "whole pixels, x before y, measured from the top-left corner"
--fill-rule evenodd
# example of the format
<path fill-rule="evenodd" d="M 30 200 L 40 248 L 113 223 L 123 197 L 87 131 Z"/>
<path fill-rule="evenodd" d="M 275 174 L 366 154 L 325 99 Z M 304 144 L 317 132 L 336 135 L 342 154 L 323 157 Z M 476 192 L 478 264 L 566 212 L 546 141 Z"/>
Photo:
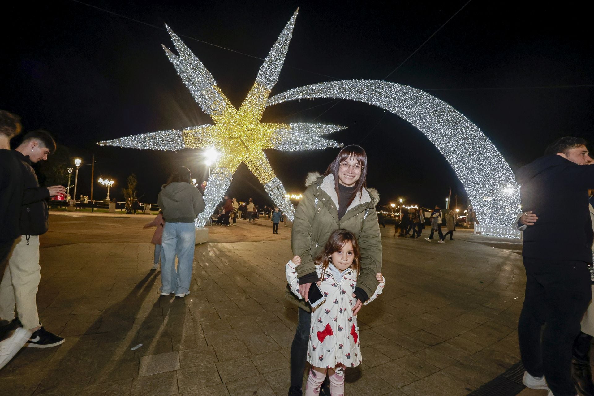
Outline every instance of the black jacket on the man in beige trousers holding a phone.
<path fill-rule="evenodd" d="M 21 235 L 42 235 L 48 232 L 49 190 L 39 186 L 35 170 L 31 166 L 29 156 L 15 151 L 23 172 L 23 206 L 21 206 Z"/>

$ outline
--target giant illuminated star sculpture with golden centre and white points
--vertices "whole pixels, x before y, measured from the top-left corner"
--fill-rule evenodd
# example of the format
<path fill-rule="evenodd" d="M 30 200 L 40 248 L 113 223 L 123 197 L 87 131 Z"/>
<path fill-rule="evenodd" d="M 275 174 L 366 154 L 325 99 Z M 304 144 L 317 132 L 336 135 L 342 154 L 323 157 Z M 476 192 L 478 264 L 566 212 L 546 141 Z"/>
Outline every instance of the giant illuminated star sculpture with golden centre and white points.
<path fill-rule="evenodd" d="M 321 135 L 344 129 L 342 126 L 308 123 L 260 123 L 270 91 L 276 84 L 285 61 L 298 11 L 299 9 L 295 11 L 264 59 L 256 81 L 239 109 L 235 109 L 229 102 L 202 62 L 166 26 L 178 55 L 165 46 L 163 48 L 198 105 L 213 119 L 214 125 L 192 126 L 182 131 L 151 132 L 99 144 L 152 150 L 214 147 L 219 151 L 220 156 L 213 166 L 204 192 L 206 209 L 196 219 L 197 227 L 204 226 L 213 214 L 214 208 L 229 188 L 233 173 L 242 162 L 264 185 L 274 204 L 293 220 L 295 209 L 289 198 L 285 197 L 285 188 L 274 175 L 264 149 L 294 151 L 341 147 L 342 144 L 321 138 Z"/>

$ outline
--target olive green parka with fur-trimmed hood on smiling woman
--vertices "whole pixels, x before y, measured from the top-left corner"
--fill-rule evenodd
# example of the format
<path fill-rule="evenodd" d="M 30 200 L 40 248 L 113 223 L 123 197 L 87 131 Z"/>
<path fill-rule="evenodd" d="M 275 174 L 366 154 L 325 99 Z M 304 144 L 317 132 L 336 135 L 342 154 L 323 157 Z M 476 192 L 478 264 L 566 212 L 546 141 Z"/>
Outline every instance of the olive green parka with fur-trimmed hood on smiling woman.
<path fill-rule="evenodd" d="M 330 234 L 343 228 L 355 234 L 361 249 L 361 274 L 356 288 L 372 296 L 378 286 L 375 274 L 381 272 L 381 234 L 375 211 L 379 194 L 375 189 L 364 188 L 339 220 L 334 176 L 309 173 L 305 186 L 307 189 L 295 211 L 291 233 L 293 254 L 301 257 L 301 265 L 296 268 L 298 278 L 311 283 L 314 277 L 317 281 L 314 258 L 323 252 Z M 286 294 L 301 308 L 311 311 L 309 304 L 304 299 L 298 300 L 288 287 Z"/>

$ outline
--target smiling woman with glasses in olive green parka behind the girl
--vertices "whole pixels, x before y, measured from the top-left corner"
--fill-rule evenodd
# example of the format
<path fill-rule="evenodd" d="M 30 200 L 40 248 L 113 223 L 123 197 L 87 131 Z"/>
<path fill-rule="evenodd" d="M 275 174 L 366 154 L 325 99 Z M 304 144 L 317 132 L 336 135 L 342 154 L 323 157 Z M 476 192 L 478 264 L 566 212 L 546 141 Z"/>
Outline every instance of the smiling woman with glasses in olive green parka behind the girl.
<path fill-rule="evenodd" d="M 343 148 L 323 176 L 308 175 L 307 189 L 295 212 L 291 248 L 293 254 L 301 258 L 296 271 L 299 293 L 305 300 L 297 300 L 287 289 L 287 297 L 299 305 L 299 321 L 291 344 L 289 396 L 302 395 L 311 320 L 307 293 L 311 283 L 319 280 L 314 258 L 323 251 L 334 230 L 347 229 L 354 233 L 361 249 L 361 274 L 352 295 L 353 299 L 358 299 L 353 308 L 355 315 L 378 286 L 375 274 L 381 272 L 381 235 L 375 205 L 380 197 L 375 189 L 366 188 L 366 166 L 367 154 L 362 147 Z M 323 387 L 320 395 L 324 392 L 327 389 Z"/>

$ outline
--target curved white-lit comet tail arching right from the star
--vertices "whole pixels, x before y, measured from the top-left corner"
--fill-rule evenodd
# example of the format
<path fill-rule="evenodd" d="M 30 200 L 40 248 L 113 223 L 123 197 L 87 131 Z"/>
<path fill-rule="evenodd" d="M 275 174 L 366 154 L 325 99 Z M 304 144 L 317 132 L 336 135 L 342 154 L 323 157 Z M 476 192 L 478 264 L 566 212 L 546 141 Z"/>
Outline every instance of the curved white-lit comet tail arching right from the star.
<path fill-rule="evenodd" d="M 516 220 L 517 212 L 509 208 L 520 204 L 520 186 L 510 166 L 481 129 L 443 100 L 407 85 L 343 80 L 294 88 L 271 97 L 267 106 L 317 98 L 356 100 L 402 117 L 450 163 L 481 224 L 493 230 L 511 226 Z"/>

